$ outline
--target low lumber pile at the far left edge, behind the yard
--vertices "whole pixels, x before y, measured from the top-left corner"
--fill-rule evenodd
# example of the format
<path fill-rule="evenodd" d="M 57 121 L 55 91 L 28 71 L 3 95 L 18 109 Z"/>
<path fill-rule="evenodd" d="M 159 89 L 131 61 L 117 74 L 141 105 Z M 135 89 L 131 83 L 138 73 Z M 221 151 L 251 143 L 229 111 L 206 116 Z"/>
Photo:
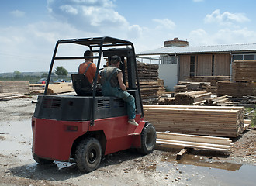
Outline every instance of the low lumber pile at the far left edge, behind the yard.
<path fill-rule="evenodd" d="M 0 81 L 0 93 L 29 94 L 29 81 Z"/>

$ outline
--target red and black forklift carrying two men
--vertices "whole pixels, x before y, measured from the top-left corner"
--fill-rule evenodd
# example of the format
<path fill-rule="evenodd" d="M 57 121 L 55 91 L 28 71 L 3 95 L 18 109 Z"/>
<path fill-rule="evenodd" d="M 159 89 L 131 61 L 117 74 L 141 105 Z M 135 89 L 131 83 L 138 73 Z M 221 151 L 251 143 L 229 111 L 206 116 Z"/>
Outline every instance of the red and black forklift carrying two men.
<path fill-rule="evenodd" d="M 47 95 L 50 77 L 56 60 L 83 60 L 89 57 L 57 55 L 58 48 L 66 45 L 91 50 L 97 71 L 88 94 L 84 74 L 72 74 L 73 95 Z M 85 49 L 84 49 L 85 48 Z M 101 63 L 118 55 L 126 63 L 120 65 L 127 91 L 136 102 L 136 122 L 127 122 L 126 103 L 116 97 L 102 96 L 97 88 Z M 92 57 L 90 57 L 92 58 Z M 102 156 L 120 150 L 135 148 L 139 153 L 152 153 L 156 144 L 154 126 L 144 121 L 133 43 L 112 37 L 58 40 L 50 64 L 43 95 L 39 95 L 32 118 L 33 158 L 38 164 L 55 161 L 74 162 L 81 172 L 94 171 Z"/>

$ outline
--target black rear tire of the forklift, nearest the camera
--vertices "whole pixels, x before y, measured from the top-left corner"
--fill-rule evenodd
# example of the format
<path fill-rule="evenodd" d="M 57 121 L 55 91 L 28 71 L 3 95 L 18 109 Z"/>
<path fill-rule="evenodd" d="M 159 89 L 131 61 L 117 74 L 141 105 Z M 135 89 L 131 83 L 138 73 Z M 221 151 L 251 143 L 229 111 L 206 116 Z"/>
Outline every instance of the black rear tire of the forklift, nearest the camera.
<path fill-rule="evenodd" d="M 75 160 L 79 171 L 91 172 L 99 167 L 102 159 L 102 147 L 95 138 L 87 138 L 78 144 Z"/>

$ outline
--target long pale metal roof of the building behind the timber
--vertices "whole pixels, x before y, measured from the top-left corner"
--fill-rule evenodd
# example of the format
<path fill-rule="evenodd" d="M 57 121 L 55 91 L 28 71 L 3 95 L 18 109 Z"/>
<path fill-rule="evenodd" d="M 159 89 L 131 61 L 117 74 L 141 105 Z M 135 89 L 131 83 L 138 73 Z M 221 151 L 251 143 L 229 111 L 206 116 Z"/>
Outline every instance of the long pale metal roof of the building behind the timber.
<path fill-rule="evenodd" d="M 189 54 L 189 53 L 245 53 L 256 52 L 256 43 L 213 45 L 199 47 L 161 47 L 154 50 L 147 50 L 137 55 L 159 55 L 159 54 Z"/>

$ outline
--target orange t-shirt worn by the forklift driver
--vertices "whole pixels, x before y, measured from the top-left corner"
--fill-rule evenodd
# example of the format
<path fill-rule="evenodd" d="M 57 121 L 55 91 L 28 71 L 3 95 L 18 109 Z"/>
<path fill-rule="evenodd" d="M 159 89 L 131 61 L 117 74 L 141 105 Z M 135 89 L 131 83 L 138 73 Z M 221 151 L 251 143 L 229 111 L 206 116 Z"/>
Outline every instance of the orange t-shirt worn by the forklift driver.
<path fill-rule="evenodd" d="M 84 62 L 84 63 L 80 64 L 78 67 L 78 74 L 84 74 L 86 68 L 88 67 L 88 64 L 90 64 L 90 63 L 92 63 L 92 62 Z M 88 78 L 88 81 L 90 83 L 92 83 L 93 78 L 95 77 L 96 70 L 97 70 L 96 65 L 94 63 L 92 63 L 85 74 L 85 76 Z M 98 80 L 99 80 L 99 78 L 100 77 L 98 74 Z"/>

